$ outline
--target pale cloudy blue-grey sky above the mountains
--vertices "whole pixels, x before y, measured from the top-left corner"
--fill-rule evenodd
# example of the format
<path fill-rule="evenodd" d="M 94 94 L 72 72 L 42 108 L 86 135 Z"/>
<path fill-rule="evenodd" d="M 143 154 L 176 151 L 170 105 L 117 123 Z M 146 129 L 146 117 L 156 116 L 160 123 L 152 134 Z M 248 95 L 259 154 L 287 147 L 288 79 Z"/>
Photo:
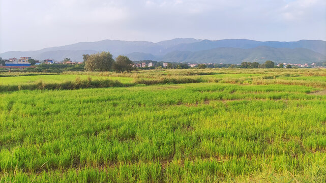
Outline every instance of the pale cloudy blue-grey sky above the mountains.
<path fill-rule="evenodd" d="M 326 40 L 325 0 L 0 0 L 0 53 L 85 41 Z"/>

